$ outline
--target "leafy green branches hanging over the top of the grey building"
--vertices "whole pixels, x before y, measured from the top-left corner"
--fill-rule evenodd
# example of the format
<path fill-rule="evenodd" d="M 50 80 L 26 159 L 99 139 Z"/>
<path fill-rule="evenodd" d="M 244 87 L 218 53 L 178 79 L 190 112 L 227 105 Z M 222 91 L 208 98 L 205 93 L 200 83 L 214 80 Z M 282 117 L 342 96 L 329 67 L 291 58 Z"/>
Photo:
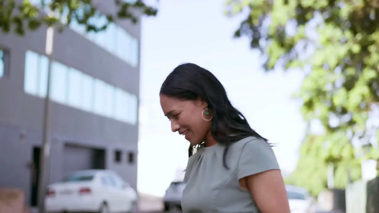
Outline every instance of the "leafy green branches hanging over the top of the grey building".
<path fill-rule="evenodd" d="M 108 0 L 109 1 L 109 0 Z M 99 1 L 97 1 L 99 2 Z M 3 33 L 11 29 L 23 36 L 25 31 L 38 30 L 41 25 L 58 25 L 62 31 L 72 21 L 85 25 L 87 31 L 105 30 L 115 19 L 130 19 L 138 21 L 135 13 L 138 11 L 147 16 L 155 16 L 157 9 L 144 4 L 141 0 L 129 3 L 114 0 L 118 8 L 117 14 L 102 14 L 92 0 L 0 0 L 0 28 Z M 53 13 L 49 16 L 48 11 Z M 96 19 L 104 18 L 102 23 Z M 26 25 L 26 26 L 25 26 Z"/>

